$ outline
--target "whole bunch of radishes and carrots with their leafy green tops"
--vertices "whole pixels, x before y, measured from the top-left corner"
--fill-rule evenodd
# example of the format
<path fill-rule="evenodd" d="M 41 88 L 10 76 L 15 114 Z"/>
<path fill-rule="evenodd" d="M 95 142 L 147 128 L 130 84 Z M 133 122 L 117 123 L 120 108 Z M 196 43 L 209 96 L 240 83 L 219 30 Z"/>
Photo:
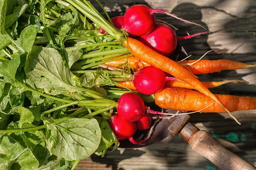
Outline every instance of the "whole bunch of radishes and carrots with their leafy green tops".
<path fill-rule="evenodd" d="M 255 98 L 208 89 L 244 81 L 195 76 L 255 65 L 168 58 L 178 40 L 206 32 L 176 37 L 154 13 L 198 25 L 142 5 L 106 20 L 89 1 L 0 0 L 0 169 L 74 170 L 93 153 L 116 150 L 120 140 L 142 144 L 150 134 L 137 142 L 136 130 L 148 129 L 152 116 L 173 115 L 145 102 L 178 111 L 256 108 Z M 169 32 L 164 39 L 158 37 L 163 30 Z"/>

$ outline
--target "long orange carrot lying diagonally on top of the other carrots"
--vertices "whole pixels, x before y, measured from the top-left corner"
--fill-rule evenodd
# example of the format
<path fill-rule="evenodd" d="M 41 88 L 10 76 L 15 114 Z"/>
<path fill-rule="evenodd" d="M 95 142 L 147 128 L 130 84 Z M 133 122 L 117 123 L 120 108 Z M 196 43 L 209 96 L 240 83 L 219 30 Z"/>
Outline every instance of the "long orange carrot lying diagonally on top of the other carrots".
<path fill-rule="evenodd" d="M 149 48 L 139 40 L 133 39 L 131 37 L 128 37 L 127 40 L 123 39 L 122 44 L 125 47 L 128 47 L 131 54 L 133 54 L 135 57 L 141 59 L 142 61 L 148 63 L 149 65 L 152 65 L 156 68 L 161 69 L 164 72 L 167 72 L 169 74 L 172 74 L 177 79 L 188 83 L 191 85 L 195 90 L 201 92 L 202 94 L 205 94 L 206 96 L 209 96 L 212 98 L 215 102 L 217 102 L 221 107 L 227 111 L 230 116 L 236 120 L 237 119 L 231 115 L 230 111 L 224 107 L 224 105 L 221 104 L 221 102 L 218 100 L 218 98 L 212 94 L 207 87 L 205 87 L 196 77 L 194 74 L 192 74 L 190 71 L 186 70 L 186 68 L 182 67 L 177 62 L 173 61 L 172 59 L 169 59 L 153 49 Z M 128 44 L 128 45 L 127 45 Z M 241 124 L 241 123 L 239 123 Z"/>

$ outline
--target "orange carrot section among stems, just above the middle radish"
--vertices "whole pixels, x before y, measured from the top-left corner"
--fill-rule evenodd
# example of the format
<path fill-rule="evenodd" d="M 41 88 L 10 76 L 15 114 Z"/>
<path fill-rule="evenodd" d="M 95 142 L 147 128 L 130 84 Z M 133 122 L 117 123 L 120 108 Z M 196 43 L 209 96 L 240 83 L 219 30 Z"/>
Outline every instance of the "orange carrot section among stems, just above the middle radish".
<path fill-rule="evenodd" d="M 106 62 L 105 65 L 117 67 L 117 66 L 125 63 L 126 59 L 127 58 L 123 58 L 123 59 L 118 59 L 118 60 L 111 61 L 111 62 Z M 132 68 L 144 68 L 146 66 L 149 66 L 147 63 L 141 61 L 140 59 L 138 59 L 137 57 L 134 57 L 134 56 L 128 57 L 128 64 L 131 65 Z"/>

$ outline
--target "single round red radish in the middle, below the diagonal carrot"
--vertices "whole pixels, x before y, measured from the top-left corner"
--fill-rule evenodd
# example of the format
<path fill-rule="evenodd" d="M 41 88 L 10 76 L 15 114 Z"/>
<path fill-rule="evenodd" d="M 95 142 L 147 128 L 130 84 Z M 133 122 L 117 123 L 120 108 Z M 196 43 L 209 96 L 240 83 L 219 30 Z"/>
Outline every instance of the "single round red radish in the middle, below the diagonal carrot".
<path fill-rule="evenodd" d="M 166 81 L 174 80 L 174 77 L 166 77 L 166 74 L 154 66 L 147 66 L 134 74 L 134 87 L 142 94 L 156 94 L 165 86 Z"/>

